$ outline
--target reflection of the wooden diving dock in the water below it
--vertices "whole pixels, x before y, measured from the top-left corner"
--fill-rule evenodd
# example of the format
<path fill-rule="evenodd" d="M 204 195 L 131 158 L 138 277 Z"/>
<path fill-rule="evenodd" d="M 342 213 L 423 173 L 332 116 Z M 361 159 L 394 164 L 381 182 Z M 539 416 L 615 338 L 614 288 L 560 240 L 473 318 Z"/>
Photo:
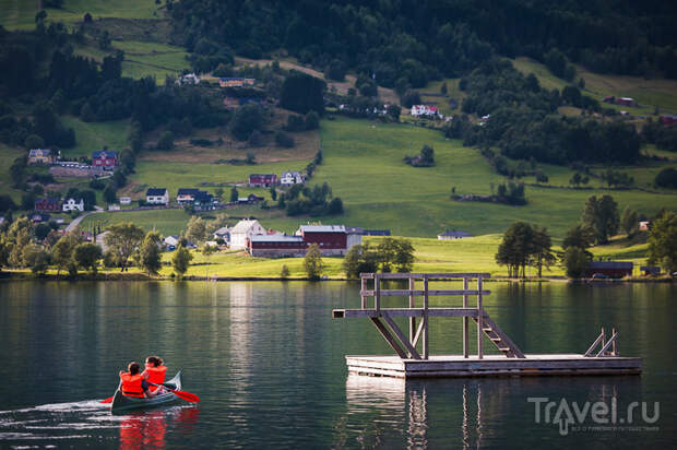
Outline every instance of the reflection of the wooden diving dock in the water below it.
<path fill-rule="evenodd" d="M 619 412 L 628 403 L 641 401 L 638 377 L 581 377 L 567 380 L 567 384 L 562 387 L 558 377 L 405 381 L 349 375 L 347 414 L 335 424 L 341 439 L 334 443 L 402 448 L 405 442 L 407 449 L 427 449 L 444 442 L 449 448 L 480 449 L 519 440 L 520 434 L 514 430 L 534 425 L 534 404 L 527 402 L 530 396 L 549 398 L 557 403 L 565 399 L 578 404 L 618 404 Z M 558 424 L 551 421 L 538 426 L 553 436 L 559 433 Z M 586 436 L 569 438 L 575 441 Z"/>

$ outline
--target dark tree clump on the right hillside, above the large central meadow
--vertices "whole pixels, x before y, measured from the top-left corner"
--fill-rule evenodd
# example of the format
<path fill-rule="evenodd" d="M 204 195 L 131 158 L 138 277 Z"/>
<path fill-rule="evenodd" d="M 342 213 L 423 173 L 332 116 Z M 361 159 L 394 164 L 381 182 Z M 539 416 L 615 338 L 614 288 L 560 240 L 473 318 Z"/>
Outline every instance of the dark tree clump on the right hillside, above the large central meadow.
<path fill-rule="evenodd" d="M 484 62 L 460 87 L 467 94 L 463 112 L 490 116 L 482 126 L 464 115 L 446 125 L 446 135 L 463 139 L 465 145 L 498 147 L 514 159 L 553 164 L 631 164 L 640 157 L 641 140 L 631 125 L 556 115 L 563 103 L 557 90 L 541 87 L 533 74 L 523 75 L 507 60 Z M 592 102 L 591 108 L 598 108 L 598 102 Z"/>

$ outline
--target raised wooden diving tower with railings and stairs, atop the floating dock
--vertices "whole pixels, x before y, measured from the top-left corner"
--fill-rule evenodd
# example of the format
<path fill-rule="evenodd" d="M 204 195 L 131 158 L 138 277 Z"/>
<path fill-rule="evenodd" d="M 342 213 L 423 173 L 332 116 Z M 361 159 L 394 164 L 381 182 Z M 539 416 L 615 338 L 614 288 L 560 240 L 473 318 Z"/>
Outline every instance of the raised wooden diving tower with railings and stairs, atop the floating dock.
<path fill-rule="evenodd" d="M 429 319 L 431 317 L 461 317 L 463 318 L 463 356 L 470 357 L 468 334 L 470 319 L 477 324 L 477 357 L 484 358 L 484 335 L 507 357 L 524 358 L 522 351 L 502 332 L 484 310 L 483 297 L 491 294 L 484 288 L 484 280 L 489 279 L 489 273 L 363 273 L 360 289 L 360 309 L 334 309 L 333 317 L 339 318 L 369 318 L 379 330 L 383 339 L 390 344 L 402 359 L 428 359 L 429 354 Z M 369 281 L 372 288 L 369 289 Z M 407 280 L 407 289 L 383 289 L 382 281 Z M 436 281 L 462 280 L 462 289 L 430 289 L 429 283 Z M 476 280 L 476 288 L 470 289 L 471 281 Z M 416 282 L 423 283 L 423 288 L 416 288 Z M 381 297 L 405 296 L 408 297 L 407 308 L 382 308 Z M 430 308 L 430 296 L 463 296 L 461 308 Z M 475 296 L 477 304 L 468 307 L 468 299 Z M 373 297 L 373 308 L 368 308 L 367 298 Z M 416 298 L 423 297 L 420 307 L 416 306 Z M 408 318 L 408 336 L 393 320 L 394 317 Z M 420 321 L 417 324 L 417 319 Z M 421 352 L 417 350 L 420 341 Z"/>

